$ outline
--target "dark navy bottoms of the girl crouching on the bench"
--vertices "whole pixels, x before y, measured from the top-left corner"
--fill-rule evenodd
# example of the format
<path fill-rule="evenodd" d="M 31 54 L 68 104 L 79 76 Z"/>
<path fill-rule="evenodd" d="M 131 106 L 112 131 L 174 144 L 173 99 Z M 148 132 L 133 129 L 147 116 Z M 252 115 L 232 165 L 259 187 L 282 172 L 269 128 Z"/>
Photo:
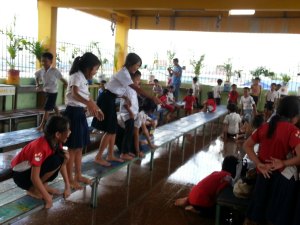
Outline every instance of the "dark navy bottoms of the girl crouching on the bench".
<path fill-rule="evenodd" d="M 62 154 L 55 153 L 49 156 L 41 166 L 40 178 L 42 178 L 46 173 L 56 170 L 46 182 L 53 181 L 57 177 L 63 162 L 64 157 Z M 18 187 L 24 190 L 29 190 L 33 186 L 31 181 L 31 168 L 22 172 L 13 171 L 13 180 Z"/>

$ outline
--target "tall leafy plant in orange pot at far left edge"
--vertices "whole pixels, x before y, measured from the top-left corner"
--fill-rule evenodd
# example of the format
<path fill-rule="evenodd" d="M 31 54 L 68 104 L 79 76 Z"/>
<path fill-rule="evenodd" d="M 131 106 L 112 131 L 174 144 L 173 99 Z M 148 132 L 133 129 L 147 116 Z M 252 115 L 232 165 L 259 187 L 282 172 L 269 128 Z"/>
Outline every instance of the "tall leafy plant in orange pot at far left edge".
<path fill-rule="evenodd" d="M 23 50 L 26 40 L 15 34 L 16 17 L 14 17 L 13 23 L 6 30 L 0 30 L 0 33 L 6 35 L 8 43 L 6 49 L 8 51 L 9 60 L 6 61 L 9 70 L 7 76 L 7 84 L 20 84 L 20 71 L 16 69 L 15 59 L 18 51 Z"/>

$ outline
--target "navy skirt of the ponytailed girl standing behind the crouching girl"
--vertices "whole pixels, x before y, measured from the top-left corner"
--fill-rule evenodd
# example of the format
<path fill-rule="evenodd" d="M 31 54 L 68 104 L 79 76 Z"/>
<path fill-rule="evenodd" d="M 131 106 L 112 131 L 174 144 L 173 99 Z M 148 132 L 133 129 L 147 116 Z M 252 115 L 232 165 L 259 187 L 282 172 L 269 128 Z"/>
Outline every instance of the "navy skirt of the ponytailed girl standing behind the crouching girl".
<path fill-rule="evenodd" d="M 66 146 L 69 149 L 85 148 L 90 143 L 90 133 L 84 108 L 67 106 L 64 116 L 69 119 L 71 130 Z"/>

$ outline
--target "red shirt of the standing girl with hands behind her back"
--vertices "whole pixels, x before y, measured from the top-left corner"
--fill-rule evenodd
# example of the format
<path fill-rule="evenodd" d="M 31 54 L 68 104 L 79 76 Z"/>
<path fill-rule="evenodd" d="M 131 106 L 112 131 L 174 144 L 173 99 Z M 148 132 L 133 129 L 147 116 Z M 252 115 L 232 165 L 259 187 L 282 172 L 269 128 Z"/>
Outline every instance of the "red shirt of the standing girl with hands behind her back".
<path fill-rule="evenodd" d="M 262 162 L 271 157 L 285 160 L 287 154 L 300 144 L 300 130 L 289 122 L 280 121 L 272 138 L 267 138 L 268 129 L 269 124 L 265 123 L 251 136 L 255 143 L 259 143 L 258 158 Z"/>

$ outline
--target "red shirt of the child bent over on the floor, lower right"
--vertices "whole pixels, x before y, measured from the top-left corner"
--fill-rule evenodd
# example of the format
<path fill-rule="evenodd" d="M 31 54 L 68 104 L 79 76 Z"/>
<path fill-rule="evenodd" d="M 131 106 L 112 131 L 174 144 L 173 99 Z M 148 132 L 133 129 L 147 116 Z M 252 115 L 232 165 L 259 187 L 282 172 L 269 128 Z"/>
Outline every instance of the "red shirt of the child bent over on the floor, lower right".
<path fill-rule="evenodd" d="M 231 174 L 227 171 L 211 173 L 192 188 L 189 193 L 189 204 L 212 207 L 216 203 L 217 195 L 230 183 L 230 180 Z"/>

